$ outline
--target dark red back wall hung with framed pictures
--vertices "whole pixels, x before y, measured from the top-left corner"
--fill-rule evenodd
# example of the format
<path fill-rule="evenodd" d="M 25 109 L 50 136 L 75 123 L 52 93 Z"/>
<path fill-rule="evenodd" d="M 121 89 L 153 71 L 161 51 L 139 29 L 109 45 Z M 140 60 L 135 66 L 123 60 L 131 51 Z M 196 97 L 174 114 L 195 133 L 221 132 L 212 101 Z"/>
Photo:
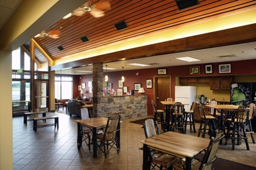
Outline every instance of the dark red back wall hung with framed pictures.
<path fill-rule="evenodd" d="M 231 64 L 231 73 L 221 73 L 219 74 L 219 64 Z M 151 109 L 151 100 L 154 100 L 154 92 L 153 89 L 146 89 L 146 79 L 153 79 L 154 76 L 157 75 L 157 69 L 167 69 L 167 74 L 171 75 L 171 97 L 175 97 L 175 84 L 176 84 L 176 77 L 188 77 L 188 76 L 214 76 L 214 75 L 250 75 L 255 74 L 256 60 L 246 60 L 246 61 L 232 61 L 227 63 L 213 63 L 213 73 L 212 74 L 205 74 L 205 64 L 196 64 L 196 65 L 186 65 L 186 66 L 172 66 L 172 67 L 159 67 L 154 69 L 140 69 L 140 70 L 125 70 L 124 67 L 124 83 L 123 86 L 128 87 L 128 92 L 134 89 L 134 83 L 141 83 L 141 87 L 144 87 L 145 94 L 148 95 L 148 114 L 153 115 Z M 191 66 L 200 66 L 200 74 L 197 75 L 190 75 L 190 67 Z M 136 75 L 136 73 L 139 73 Z M 112 83 L 113 89 L 116 91 L 117 89 L 121 89 L 118 87 L 118 80 L 121 80 L 122 72 L 107 72 L 108 75 L 108 83 Z M 105 72 L 104 72 L 105 76 Z M 79 78 L 81 77 L 81 79 Z M 77 80 L 75 80 L 77 79 Z M 80 75 L 74 77 L 74 91 L 73 94 L 80 95 L 80 91 L 78 91 L 77 86 L 86 83 L 86 89 L 89 91 L 88 88 L 88 81 L 93 81 L 93 75 Z M 105 88 L 104 88 L 105 92 Z M 106 94 L 106 92 L 105 92 Z M 138 91 L 135 91 L 135 95 L 138 94 Z M 92 97 L 92 94 L 86 94 L 88 97 Z"/>

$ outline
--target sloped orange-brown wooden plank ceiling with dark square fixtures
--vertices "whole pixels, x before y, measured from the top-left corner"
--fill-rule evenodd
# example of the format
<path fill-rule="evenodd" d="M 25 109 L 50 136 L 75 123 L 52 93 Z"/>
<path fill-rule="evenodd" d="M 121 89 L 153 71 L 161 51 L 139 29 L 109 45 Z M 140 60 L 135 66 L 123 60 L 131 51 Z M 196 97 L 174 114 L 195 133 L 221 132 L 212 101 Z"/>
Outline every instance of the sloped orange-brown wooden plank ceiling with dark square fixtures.
<path fill-rule="evenodd" d="M 91 1 L 94 4 L 97 1 Z M 215 19 L 246 10 L 256 9 L 256 1 L 211 0 L 199 1 L 200 4 L 185 10 L 179 10 L 174 0 L 172 1 L 109 1 L 111 10 L 105 16 L 94 18 L 86 12 L 83 16 L 71 16 L 60 19 L 49 28 L 42 30 L 60 30 L 60 38 L 53 39 L 48 36 L 35 38 L 41 48 L 48 53 L 52 60 L 60 60 L 64 56 L 94 50 L 110 44 L 136 39 L 152 33 L 192 24 L 202 20 Z M 115 25 L 126 21 L 128 28 L 116 30 Z M 82 36 L 88 36 L 90 41 L 82 42 Z M 24 44 L 29 50 L 30 42 Z M 62 46 L 60 51 L 57 47 Z M 40 63 L 45 58 L 36 54 Z"/>

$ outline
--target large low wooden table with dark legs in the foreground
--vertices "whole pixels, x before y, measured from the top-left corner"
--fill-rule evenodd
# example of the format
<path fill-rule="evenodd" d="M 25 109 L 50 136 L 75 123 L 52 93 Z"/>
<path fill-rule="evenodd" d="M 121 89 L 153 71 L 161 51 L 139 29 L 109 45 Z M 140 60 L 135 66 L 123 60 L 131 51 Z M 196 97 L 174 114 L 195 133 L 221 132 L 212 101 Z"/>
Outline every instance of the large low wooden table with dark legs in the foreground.
<path fill-rule="evenodd" d="M 148 148 L 167 154 L 186 158 L 186 169 L 191 169 L 191 163 L 197 154 L 207 148 L 210 140 L 177 132 L 166 132 L 155 137 L 141 140 L 143 143 L 143 169 L 148 169 Z"/>

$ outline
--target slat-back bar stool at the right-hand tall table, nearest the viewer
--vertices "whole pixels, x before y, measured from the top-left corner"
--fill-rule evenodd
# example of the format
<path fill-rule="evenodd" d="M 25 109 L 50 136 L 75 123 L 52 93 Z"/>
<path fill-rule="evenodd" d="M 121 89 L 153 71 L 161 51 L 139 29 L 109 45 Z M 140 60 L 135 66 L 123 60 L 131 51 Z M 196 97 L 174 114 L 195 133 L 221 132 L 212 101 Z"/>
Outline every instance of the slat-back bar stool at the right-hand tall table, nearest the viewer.
<path fill-rule="evenodd" d="M 237 140 L 237 144 L 241 144 L 241 140 L 243 139 L 246 143 L 246 148 L 249 151 L 249 143 L 248 143 L 248 137 L 246 136 L 246 130 L 245 126 L 248 121 L 248 111 L 246 110 L 246 107 L 239 106 L 236 112 L 232 115 L 232 118 L 228 118 L 227 121 L 229 121 L 229 127 L 227 129 L 227 135 L 226 135 L 226 142 L 229 138 L 232 139 L 232 150 L 235 151 L 235 140 Z M 241 134 L 243 132 L 243 134 Z"/>

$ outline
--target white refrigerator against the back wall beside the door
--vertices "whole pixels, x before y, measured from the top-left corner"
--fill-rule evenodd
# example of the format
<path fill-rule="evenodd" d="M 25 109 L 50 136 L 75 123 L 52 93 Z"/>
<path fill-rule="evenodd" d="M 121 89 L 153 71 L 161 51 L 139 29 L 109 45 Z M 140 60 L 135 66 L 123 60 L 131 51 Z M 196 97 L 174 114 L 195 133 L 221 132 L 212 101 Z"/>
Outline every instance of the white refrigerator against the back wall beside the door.
<path fill-rule="evenodd" d="M 196 100 L 196 86 L 175 86 L 175 102 L 189 103 L 184 105 L 185 110 L 190 110 L 194 100 Z"/>

